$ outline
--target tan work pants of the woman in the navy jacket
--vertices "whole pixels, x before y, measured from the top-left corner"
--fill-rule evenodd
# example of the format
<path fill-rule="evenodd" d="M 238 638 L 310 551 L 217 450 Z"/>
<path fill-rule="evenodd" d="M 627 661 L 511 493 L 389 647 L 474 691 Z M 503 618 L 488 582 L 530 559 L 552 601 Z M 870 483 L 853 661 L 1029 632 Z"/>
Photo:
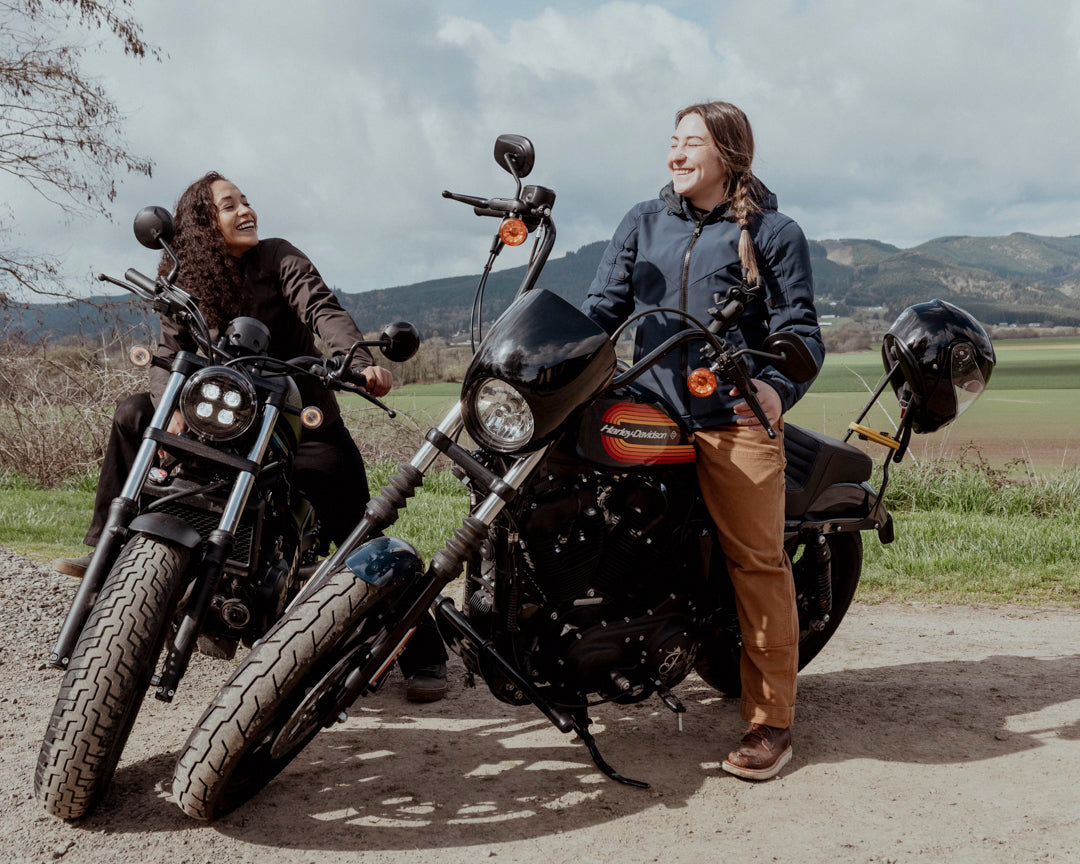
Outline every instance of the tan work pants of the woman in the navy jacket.
<path fill-rule="evenodd" d="M 782 426 L 778 423 L 778 427 Z M 698 480 L 735 589 L 742 631 L 742 701 L 747 723 L 795 720 L 799 623 L 784 552 L 783 432 L 727 426 L 694 433 Z"/>

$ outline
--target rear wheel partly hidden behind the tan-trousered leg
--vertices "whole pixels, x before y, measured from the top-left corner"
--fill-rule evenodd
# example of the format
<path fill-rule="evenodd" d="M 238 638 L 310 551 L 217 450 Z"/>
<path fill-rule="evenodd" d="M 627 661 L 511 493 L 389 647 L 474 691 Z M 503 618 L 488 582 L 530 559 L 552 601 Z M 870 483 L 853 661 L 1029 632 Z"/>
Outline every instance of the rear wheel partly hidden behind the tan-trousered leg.
<path fill-rule="evenodd" d="M 824 625 L 811 626 L 814 615 L 811 609 L 813 592 L 807 584 L 811 565 L 804 559 L 810 554 L 806 548 L 802 556 L 793 564 L 795 577 L 796 604 L 799 613 L 799 669 L 813 660 L 825 644 L 836 633 L 840 621 L 851 606 L 863 571 L 863 539 L 855 532 L 837 532 L 825 535 L 828 543 L 831 563 L 831 582 L 833 592 L 832 611 Z M 710 687 L 728 696 L 738 696 L 741 690 L 739 660 L 742 653 L 742 640 L 739 635 L 739 622 L 734 612 L 730 620 L 723 622 L 712 634 L 698 654 L 694 669 Z"/>

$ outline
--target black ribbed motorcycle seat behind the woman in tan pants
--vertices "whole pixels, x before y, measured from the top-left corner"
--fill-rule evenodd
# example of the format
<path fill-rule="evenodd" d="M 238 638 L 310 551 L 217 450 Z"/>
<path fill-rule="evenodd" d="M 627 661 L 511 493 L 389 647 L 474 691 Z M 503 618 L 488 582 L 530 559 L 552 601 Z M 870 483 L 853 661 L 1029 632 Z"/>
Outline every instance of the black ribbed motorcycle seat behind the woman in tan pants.
<path fill-rule="evenodd" d="M 794 423 L 784 424 L 784 455 L 788 517 L 807 513 L 829 486 L 863 483 L 874 471 L 874 460 L 858 447 Z"/>

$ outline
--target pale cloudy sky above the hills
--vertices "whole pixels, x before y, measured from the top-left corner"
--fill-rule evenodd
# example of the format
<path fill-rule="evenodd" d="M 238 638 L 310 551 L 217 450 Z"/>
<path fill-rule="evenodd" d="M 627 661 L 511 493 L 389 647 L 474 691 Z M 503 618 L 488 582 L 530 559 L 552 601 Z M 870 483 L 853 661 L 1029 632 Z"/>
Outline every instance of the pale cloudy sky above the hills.
<path fill-rule="evenodd" d="M 65 222 L 0 181 L 18 245 L 89 274 L 153 270 L 130 225 L 207 170 L 262 237 L 347 292 L 477 272 L 509 195 L 495 137 L 537 150 L 556 255 L 666 183 L 677 108 L 741 106 L 755 170 L 812 239 L 1080 233 L 1080 0 L 135 0 L 161 63 L 89 46 L 152 178 Z M 502 265 L 524 261 L 507 251 Z M 95 288 L 96 289 L 96 288 Z"/>

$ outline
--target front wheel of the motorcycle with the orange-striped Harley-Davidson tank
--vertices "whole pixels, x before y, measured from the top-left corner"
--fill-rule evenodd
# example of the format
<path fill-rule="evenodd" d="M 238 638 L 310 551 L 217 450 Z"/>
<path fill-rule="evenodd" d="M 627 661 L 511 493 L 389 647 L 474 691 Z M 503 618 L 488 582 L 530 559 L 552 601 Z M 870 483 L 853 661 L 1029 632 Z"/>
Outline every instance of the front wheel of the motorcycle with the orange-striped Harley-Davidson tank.
<path fill-rule="evenodd" d="M 387 605 L 384 590 L 346 569 L 255 644 L 176 764 L 173 796 L 185 813 L 210 821 L 240 806 L 335 719 Z"/>

